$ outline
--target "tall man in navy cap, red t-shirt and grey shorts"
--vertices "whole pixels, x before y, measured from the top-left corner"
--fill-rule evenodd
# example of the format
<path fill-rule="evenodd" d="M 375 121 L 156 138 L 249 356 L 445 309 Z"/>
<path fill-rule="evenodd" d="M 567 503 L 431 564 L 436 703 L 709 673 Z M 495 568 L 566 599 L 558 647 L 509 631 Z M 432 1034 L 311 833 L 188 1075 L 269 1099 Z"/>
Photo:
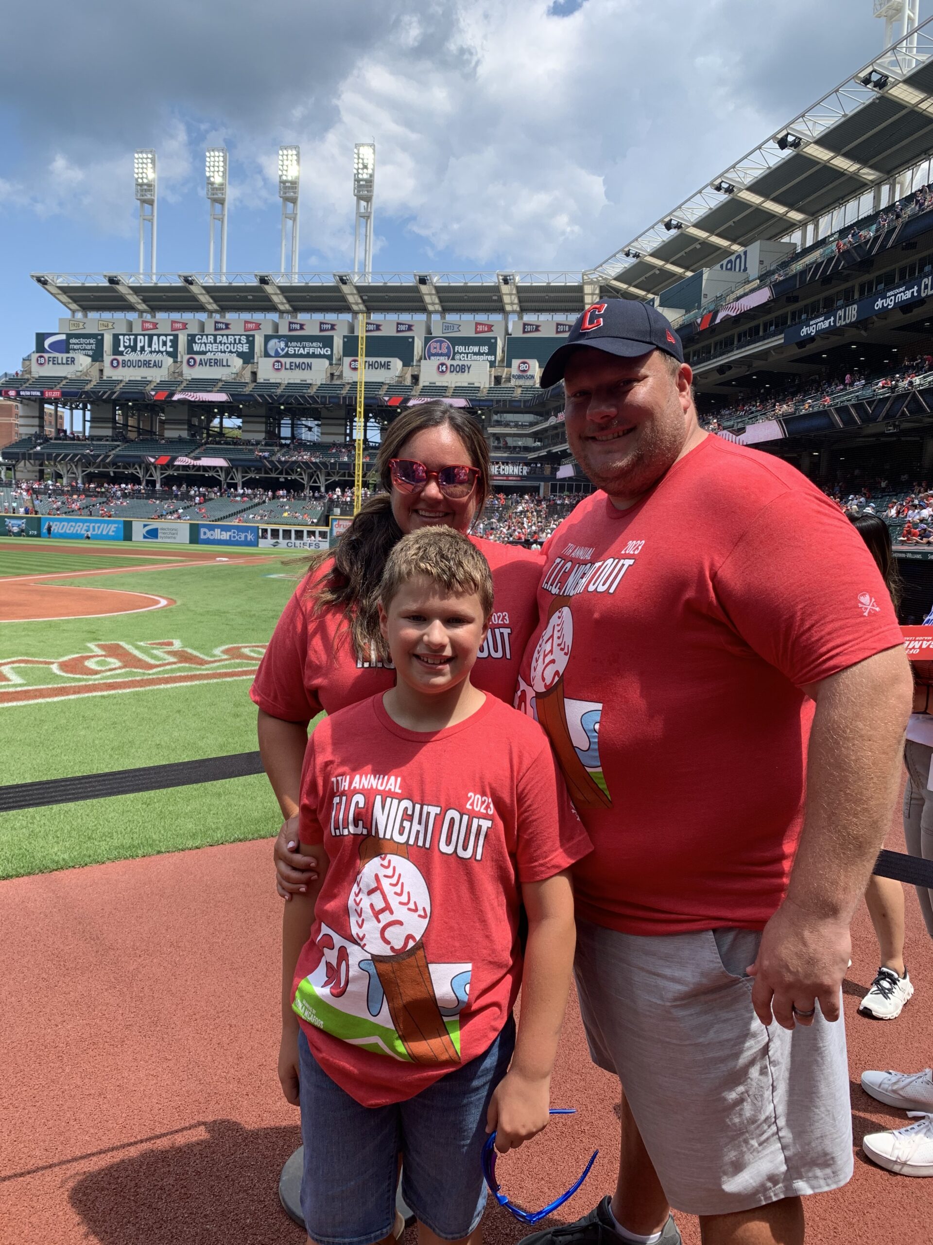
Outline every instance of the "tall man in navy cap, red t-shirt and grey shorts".
<path fill-rule="evenodd" d="M 624 1096 L 616 1193 L 555 1243 L 667 1245 L 674 1205 L 705 1245 L 795 1245 L 800 1195 L 852 1170 L 840 995 L 896 798 L 901 632 L 838 507 L 699 427 L 653 308 L 588 308 L 561 378 L 600 492 L 545 545 L 516 703 L 593 842 L 577 986 Z"/>

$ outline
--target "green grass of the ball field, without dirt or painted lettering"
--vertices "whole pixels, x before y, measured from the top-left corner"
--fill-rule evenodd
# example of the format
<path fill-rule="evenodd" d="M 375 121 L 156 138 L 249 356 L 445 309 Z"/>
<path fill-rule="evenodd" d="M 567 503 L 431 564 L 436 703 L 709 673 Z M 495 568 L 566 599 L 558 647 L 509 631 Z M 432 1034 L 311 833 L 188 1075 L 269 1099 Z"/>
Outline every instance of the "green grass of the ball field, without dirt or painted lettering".
<path fill-rule="evenodd" d="M 132 558 L 129 547 L 123 548 Z M 170 547 L 160 547 L 158 552 L 170 555 Z M 12 555 L 17 553 L 14 550 Z M 45 559 L 53 557 L 41 549 L 24 550 L 22 555 L 40 564 L 30 571 L 20 571 L 22 574 L 42 574 L 49 568 Z M 0 566 L 6 564 L 7 557 L 9 542 L 4 542 Z M 67 569 L 72 573 L 78 566 L 91 569 L 88 564 L 93 560 L 93 555 L 72 558 Z M 113 565 L 111 557 L 101 560 L 107 566 Z M 128 645 L 128 652 L 156 654 L 157 659 L 165 650 L 147 649 L 149 641 L 179 641 L 184 649 L 205 659 L 215 656 L 215 650 L 223 646 L 264 645 L 295 589 L 302 565 L 304 560 L 290 557 L 256 560 L 251 565 L 214 561 L 207 566 L 139 570 L 100 580 L 62 575 L 56 583 L 152 593 L 178 604 L 113 618 L 4 622 L 0 625 L 0 667 L 16 657 L 50 661 L 92 655 L 95 650 L 90 645 L 114 641 Z M 30 686 L 46 686 L 45 680 L 55 682 L 56 693 L 57 684 L 63 681 L 63 676 L 47 667 L 7 669 L 14 669 Z M 224 681 L 147 686 L 112 695 L 34 703 L 4 703 L 0 698 L 0 783 L 253 751 L 256 747 L 256 713 L 248 695 L 253 671 L 234 672 L 236 677 Z M 9 681 L 0 681 L 0 687 L 9 687 Z M 279 820 L 275 798 L 261 774 L 2 813 L 0 878 L 260 838 L 274 834 Z"/>

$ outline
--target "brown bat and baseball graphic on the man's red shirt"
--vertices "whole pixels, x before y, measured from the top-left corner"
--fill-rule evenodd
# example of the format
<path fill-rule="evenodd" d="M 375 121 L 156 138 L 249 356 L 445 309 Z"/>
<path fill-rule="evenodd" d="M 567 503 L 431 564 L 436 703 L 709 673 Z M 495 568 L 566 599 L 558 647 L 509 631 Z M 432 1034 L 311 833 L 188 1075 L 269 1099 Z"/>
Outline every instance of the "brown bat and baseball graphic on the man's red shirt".
<path fill-rule="evenodd" d="M 612 801 L 577 756 L 567 725 L 564 674 L 573 647 L 573 615 L 569 596 L 555 596 L 547 625 L 531 657 L 531 687 L 535 692 L 537 721 L 557 753 L 567 791 L 573 803 L 592 808 L 611 808 Z"/>

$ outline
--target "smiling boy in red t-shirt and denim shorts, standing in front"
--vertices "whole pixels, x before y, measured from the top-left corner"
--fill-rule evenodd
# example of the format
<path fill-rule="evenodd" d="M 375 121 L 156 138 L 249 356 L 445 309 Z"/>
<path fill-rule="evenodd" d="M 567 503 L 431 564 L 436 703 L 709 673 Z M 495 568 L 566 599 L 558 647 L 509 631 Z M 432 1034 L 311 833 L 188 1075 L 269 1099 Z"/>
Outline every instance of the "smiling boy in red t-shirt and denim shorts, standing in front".
<path fill-rule="evenodd" d="M 279 1077 L 312 1241 L 392 1240 L 401 1152 L 420 1245 L 473 1245 L 486 1134 L 505 1152 L 547 1123 L 567 870 L 591 845 L 541 728 L 470 682 L 491 609 L 465 537 L 404 537 L 379 604 L 396 686 L 309 741 L 299 840 L 318 875 L 285 908 Z"/>

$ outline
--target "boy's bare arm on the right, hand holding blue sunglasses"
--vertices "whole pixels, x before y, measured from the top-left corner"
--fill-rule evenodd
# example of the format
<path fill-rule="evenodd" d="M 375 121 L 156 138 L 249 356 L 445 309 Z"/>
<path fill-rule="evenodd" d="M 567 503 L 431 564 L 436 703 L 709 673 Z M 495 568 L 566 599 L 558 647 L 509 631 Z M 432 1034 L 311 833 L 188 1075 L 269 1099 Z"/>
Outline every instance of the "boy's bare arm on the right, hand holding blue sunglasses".
<path fill-rule="evenodd" d="M 569 873 L 521 888 L 529 920 L 515 1053 L 489 1104 L 486 1132 L 505 1154 L 547 1124 L 551 1072 L 570 994 L 576 926 Z"/>

